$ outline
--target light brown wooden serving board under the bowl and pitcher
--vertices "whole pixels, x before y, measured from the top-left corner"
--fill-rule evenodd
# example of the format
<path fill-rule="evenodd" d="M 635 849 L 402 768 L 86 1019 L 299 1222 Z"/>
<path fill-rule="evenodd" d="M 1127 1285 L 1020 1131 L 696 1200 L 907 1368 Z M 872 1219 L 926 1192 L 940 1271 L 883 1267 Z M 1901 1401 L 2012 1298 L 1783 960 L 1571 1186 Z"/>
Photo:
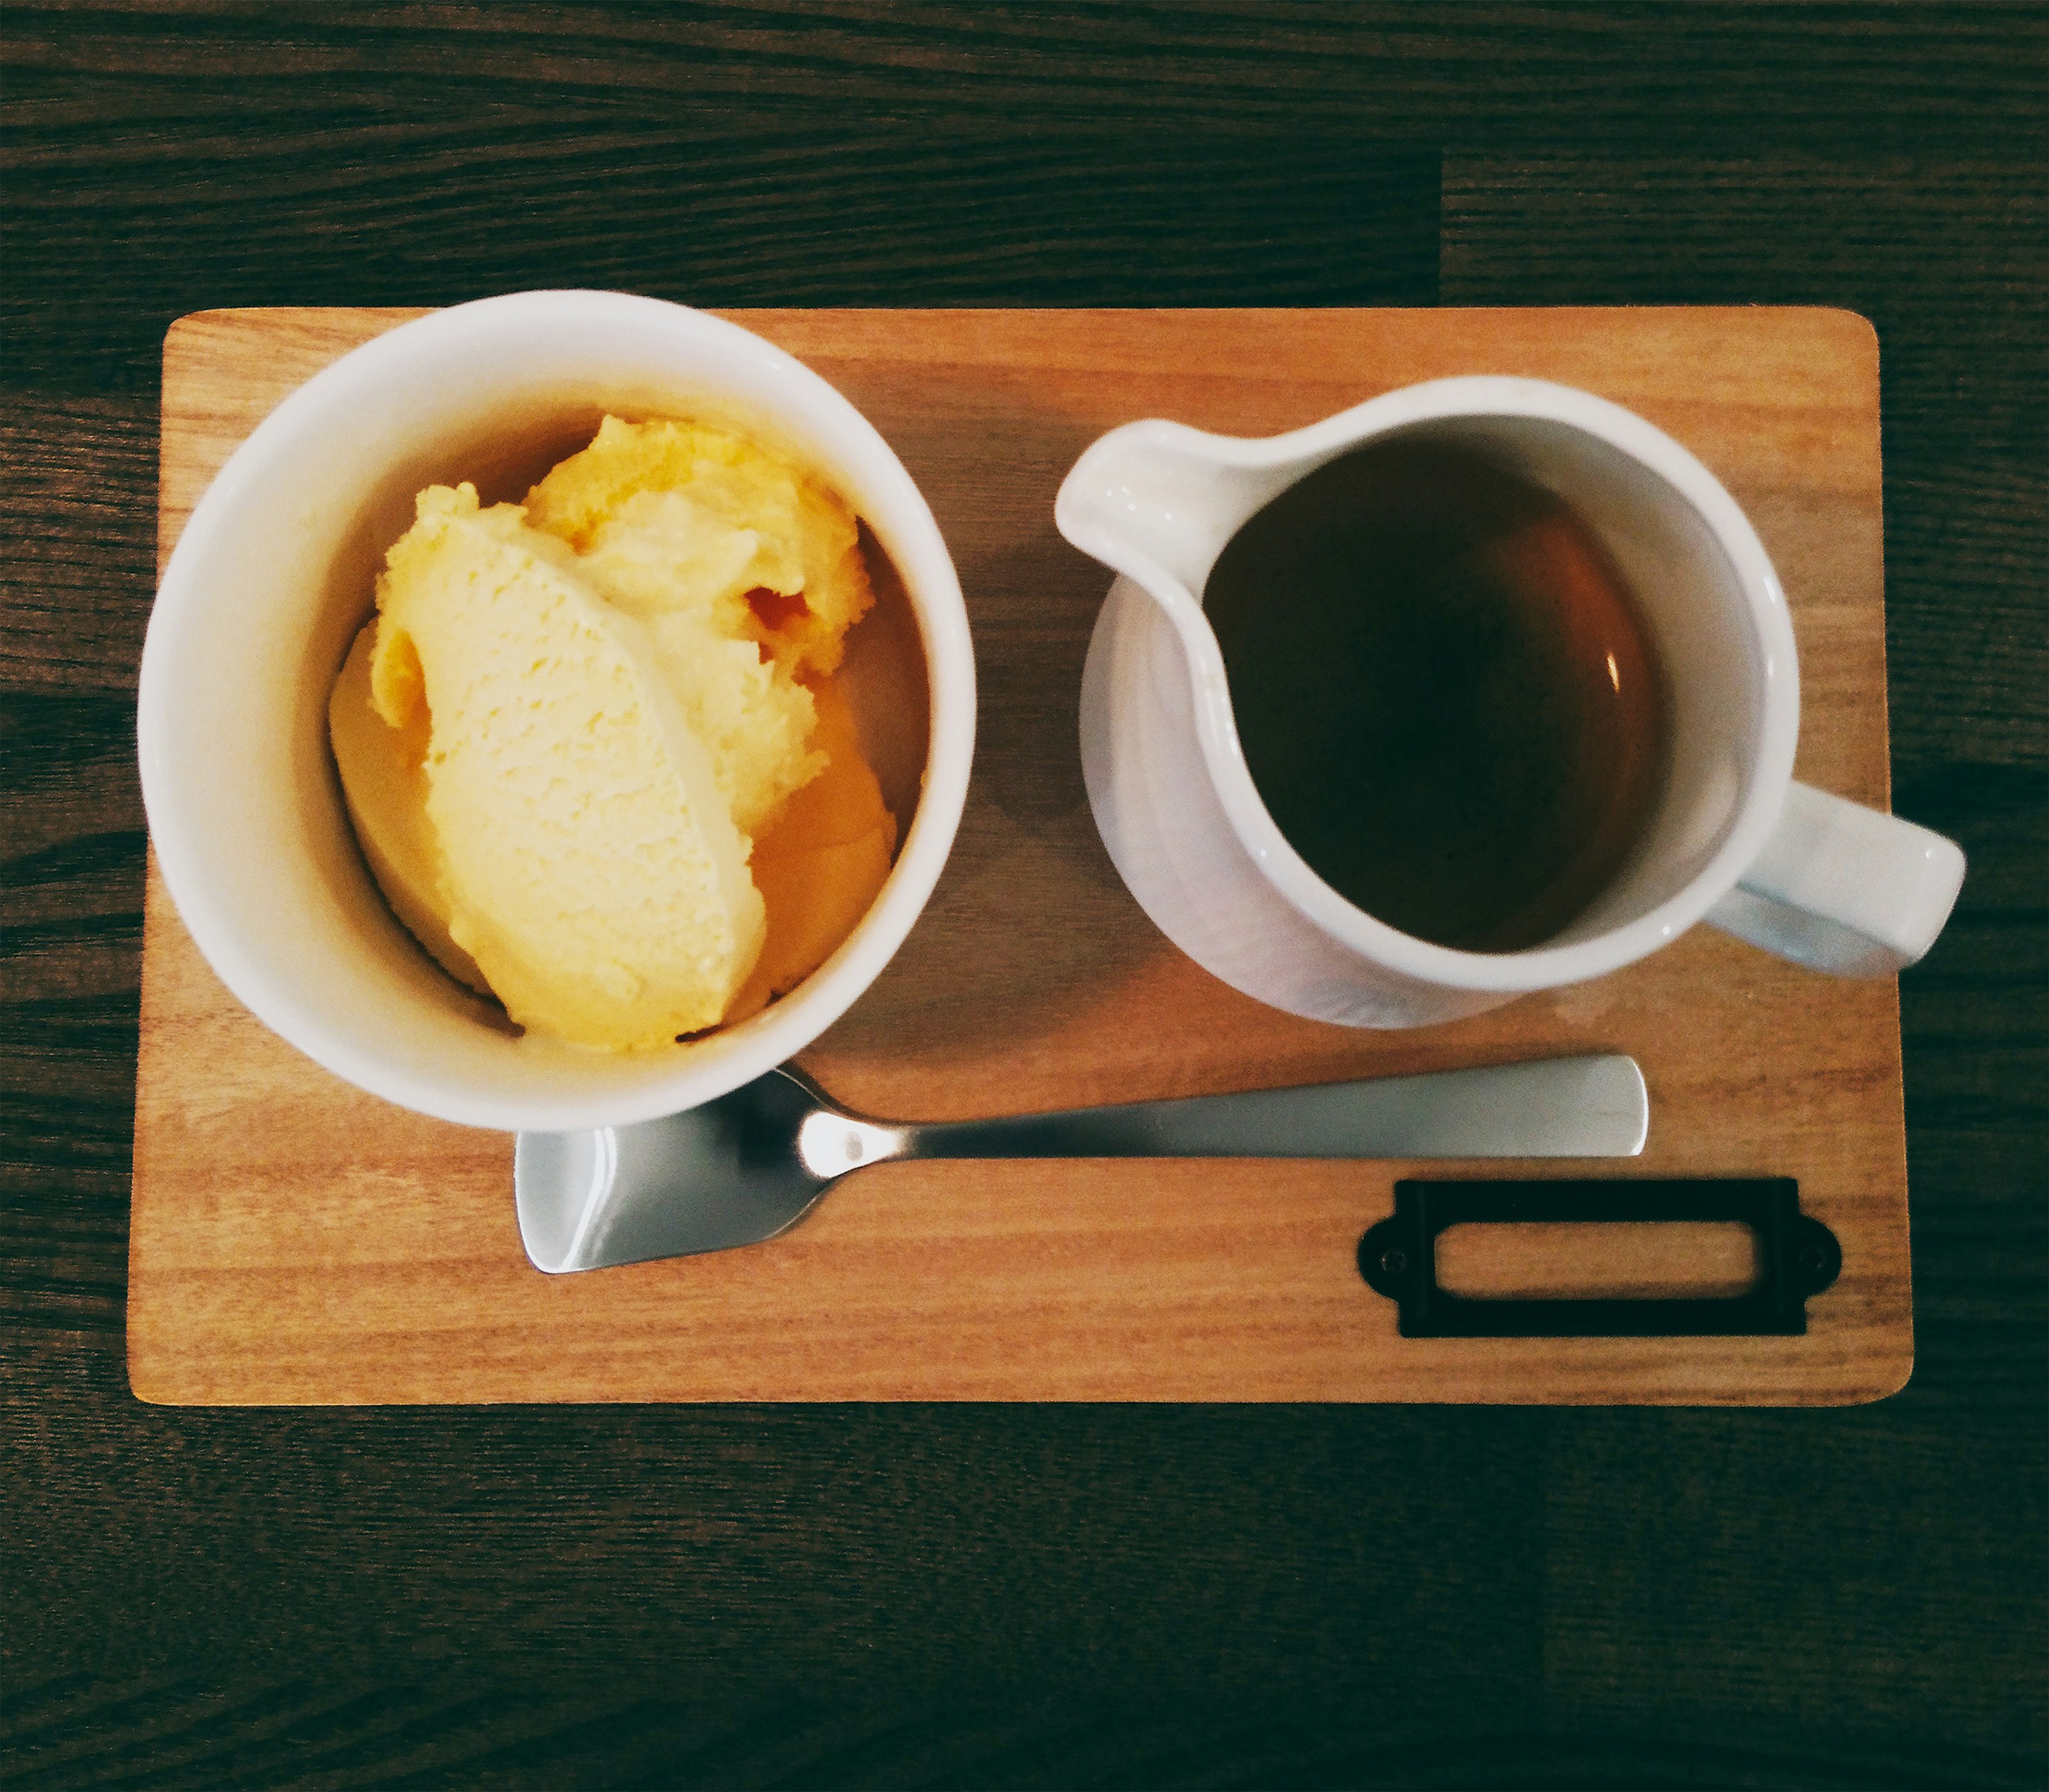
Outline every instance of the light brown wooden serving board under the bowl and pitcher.
<path fill-rule="evenodd" d="M 164 344 L 162 537 L 316 369 L 410 311 L 211 311 Z M 1897 987 L 1699 928 L 1602 981 L 1420 1032 L 1217 983 L 1104 856 L 1076 748 L 1109 573 L 1053 492 L 1113 424 L 1313 422 L 1453 373 L 1557 379 L 1686 442 L 1793 600 L 1799 776 L 1887 801 L 1879 367 L 1824 309 L 742 311 L 928 496 L 981 676 L 947 874 L 803 1065 L 904 1118 L 1627 1051 L 1651 1143 L 1617 1176 L 1795 1176 L 1842 1241 L 1805 1337 L 1404 1339 L 1354 1266 L 1399 1163 L 906 1163 L 754 1249 L 549 1278 L 512 1141 L 359 1094 L 215 981 L 152 866 L 129 1372 L 172 1403 L 1086 1399 L 1848 1403 L 1912 1370 Z M 1572 1174 L 1578 1165 L 1467 1165 Z M 1457 1171 L 1430 1165 L 1426 1174 Z M 1522 1276 L 1527 1290 L 1529 1276 Z"/>

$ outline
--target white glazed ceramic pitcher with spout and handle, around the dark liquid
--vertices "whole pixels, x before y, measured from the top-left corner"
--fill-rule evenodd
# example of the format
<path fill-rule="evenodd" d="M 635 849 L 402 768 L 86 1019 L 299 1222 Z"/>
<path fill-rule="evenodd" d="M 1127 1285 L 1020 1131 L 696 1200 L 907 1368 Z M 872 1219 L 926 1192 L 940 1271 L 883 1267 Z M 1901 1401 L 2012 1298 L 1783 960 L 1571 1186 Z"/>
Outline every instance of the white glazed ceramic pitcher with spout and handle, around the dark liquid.
<path fill-rule="evenodd" d="M 1246 770 L 1201 590 L 1256 510 L 1393 432 L 1461 442 L 1561 496 L 1631 578 L 1668 674 L 1664 797 L 1615 885 L 1555 940 L 1459 952 L 1373 920 L 1289 846 Z M 1842 975 L 1914 963 L 1963 881 L 1949 840 L 1793 782 L 1799 670 L 1748 518 L 1643 418 L 1533 379 L 1442 379 L 1264 440 L 1170 422 L 1094 442 L 1061 535 L 1121 573 L 1082 680 L 1096 825 L 1160 930 L 1248 995 L 1344 1026 L 1422 1026 L 1615 971 L 1711 920 Z"/>

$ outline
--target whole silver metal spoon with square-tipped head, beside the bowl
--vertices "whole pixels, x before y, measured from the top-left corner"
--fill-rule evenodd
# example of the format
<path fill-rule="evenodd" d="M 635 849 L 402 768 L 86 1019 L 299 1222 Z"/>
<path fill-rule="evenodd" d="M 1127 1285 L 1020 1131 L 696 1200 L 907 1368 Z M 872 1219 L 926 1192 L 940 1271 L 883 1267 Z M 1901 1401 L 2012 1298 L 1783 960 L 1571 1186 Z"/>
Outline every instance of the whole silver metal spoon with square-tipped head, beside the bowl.
<path fill-rule="evenodd" d="M 512 1186 L 527 1255 L 561 1274 L 756 1245 L 902 1157 L 1635 1157 L 1647 1128 L 1629 1057 L 932 1124 L 850 1114 L 785 1065 L 666 1120 L 520 1133 Z"/>

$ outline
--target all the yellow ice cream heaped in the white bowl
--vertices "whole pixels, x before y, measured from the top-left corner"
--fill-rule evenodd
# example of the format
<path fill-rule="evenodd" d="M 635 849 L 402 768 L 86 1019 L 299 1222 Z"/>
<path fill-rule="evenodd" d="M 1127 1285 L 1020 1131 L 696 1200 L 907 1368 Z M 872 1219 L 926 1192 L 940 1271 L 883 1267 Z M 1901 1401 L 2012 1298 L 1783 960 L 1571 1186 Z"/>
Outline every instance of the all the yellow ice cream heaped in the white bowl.
<path fill-rule="evenodd" d="M 895 844 L 830 680 L 871 602 L 846 506 L 719 430 L 607 418 L 522 506 L 428 487 L 330 698 L 393 911 L 588 1047 L 795 987 Z"/>

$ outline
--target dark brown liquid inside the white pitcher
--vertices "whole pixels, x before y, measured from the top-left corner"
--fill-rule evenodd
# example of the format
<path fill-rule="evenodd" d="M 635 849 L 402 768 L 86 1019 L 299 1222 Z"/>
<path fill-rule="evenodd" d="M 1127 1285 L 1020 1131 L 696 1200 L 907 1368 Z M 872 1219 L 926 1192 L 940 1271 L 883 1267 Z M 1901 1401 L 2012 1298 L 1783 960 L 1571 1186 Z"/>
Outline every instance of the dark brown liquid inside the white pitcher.
<path fill-rule="evenodd" d="M 1662 780 L 1662 680 L 1559 498 L 1469 449 L 1375 442 L 1246 522 L 1203 608 L 1252 782 L 1346 901 L 1516 952 L 1621 870 Z"/>

